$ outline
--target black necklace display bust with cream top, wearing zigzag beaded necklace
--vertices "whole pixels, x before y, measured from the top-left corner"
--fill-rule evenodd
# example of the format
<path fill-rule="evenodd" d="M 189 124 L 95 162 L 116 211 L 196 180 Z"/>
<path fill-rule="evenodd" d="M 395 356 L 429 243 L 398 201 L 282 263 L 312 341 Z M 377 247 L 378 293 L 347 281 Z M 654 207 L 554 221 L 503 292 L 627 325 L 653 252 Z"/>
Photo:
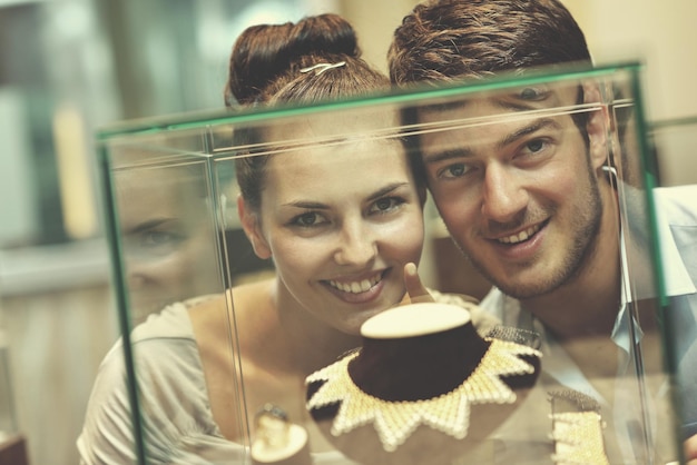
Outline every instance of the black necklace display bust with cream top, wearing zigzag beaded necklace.
<path fill-rule="evenodd" d="M 475 454 L 539 374 L 538 350 L 482 338 L 469 311 L 452 305 L 386 310 L 361 334 L 360 349 L 306 383 L 320 429 L 362 464 L 448 464 Z"/>

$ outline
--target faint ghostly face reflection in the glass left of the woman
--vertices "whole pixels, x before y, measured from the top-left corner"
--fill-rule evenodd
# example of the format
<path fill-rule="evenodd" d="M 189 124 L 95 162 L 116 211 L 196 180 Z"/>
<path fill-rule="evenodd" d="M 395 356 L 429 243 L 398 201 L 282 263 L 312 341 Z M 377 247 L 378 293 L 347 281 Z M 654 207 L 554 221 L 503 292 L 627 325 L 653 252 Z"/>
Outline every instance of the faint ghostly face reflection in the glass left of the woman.
<path fill-rule="evenodd" d="M 138 318 L 215 281 L 215 246 L 196 176 L 131 169 L 116 178 L 130 306 Z"/>

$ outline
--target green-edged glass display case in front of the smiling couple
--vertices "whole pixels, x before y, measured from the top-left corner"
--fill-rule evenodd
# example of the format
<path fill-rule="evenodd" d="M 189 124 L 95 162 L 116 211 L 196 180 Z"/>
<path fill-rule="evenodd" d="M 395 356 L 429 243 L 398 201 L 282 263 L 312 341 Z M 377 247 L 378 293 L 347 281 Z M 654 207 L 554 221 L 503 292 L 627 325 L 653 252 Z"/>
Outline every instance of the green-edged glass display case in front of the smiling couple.
<path fill-rule="evenodd" d="M 81 448 L 144 464 L 678 461 L 640 73 L 556 69 L 101 131 L 122 338 Z M 534 318 L 487 316 L 490 299 L 438 293 L 443 221 L 469 254 L 439 260 L 479 263 L 527 303 L 557 255 L 602 257 L 567 267 L 600 285 Z M 430 299 L 403 298 L 409 261 Z M 606 287 L 617 308 L 601 324 L 567 324 L 599 313 Z"/>

